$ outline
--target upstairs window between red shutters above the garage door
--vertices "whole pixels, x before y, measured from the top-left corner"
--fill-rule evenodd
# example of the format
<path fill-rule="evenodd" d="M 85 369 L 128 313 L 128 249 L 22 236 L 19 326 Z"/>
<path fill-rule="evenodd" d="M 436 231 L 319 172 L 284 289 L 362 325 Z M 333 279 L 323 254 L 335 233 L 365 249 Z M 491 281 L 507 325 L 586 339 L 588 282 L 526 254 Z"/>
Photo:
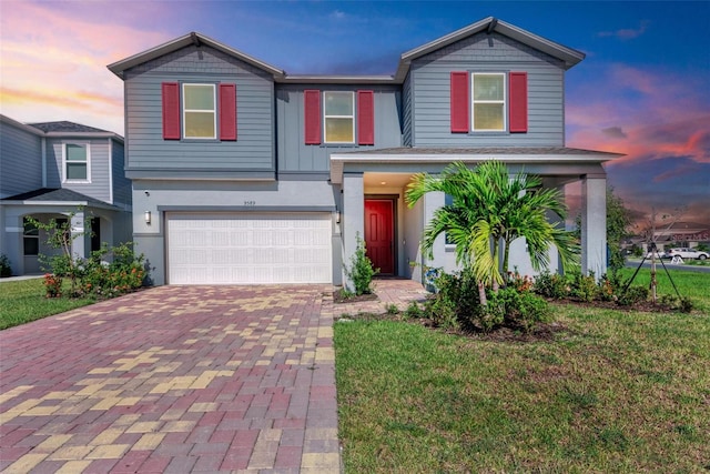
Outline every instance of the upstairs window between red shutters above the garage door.
<path fill-rule="evenodd" d="M 214 84 L 182 84 L 183 138 L 216 139 Z"/>

